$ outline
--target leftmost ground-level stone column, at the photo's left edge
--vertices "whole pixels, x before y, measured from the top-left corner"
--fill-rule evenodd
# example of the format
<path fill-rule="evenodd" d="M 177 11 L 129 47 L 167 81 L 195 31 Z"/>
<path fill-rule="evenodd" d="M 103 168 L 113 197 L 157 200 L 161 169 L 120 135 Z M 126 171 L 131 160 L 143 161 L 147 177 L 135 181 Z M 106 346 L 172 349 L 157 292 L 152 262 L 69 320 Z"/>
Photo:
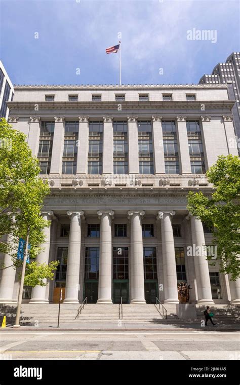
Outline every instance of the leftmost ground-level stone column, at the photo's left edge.
<path fill-rule="evenodd" d="M 12 236 L 8 235 L 6 238 L 6 243 L 17 251 L 18 245 L 13 242 Z M 15 253 L 14 250 L 11 251 Z M 13 260 L 9 254 L 4 254 L 3 263 L 7 268 L 2 271 L 2 279 L 0 283 L 0 303 L 16 302 L 17 299 L 13 298 L 16 269 L 13 267 L 8 267 L 12 266 L 13 264 Z"/>

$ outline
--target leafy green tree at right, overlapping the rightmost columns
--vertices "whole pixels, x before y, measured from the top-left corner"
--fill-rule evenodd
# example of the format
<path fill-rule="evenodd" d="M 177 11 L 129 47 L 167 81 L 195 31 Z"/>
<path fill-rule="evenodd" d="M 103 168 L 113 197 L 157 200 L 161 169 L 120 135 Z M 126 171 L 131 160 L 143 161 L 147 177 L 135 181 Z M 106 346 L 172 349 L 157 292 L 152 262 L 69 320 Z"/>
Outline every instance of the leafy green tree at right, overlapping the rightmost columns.
<path fill-rule="evenodd" d="M 212 228 L 220 272 L 230 274 L 235 281 L 240 276 L 240 160 L 232 155 L 219 156 L 206 174 L 214 193 L 209 197 L 202 191 L 189 191 L 187 208 Z"/>

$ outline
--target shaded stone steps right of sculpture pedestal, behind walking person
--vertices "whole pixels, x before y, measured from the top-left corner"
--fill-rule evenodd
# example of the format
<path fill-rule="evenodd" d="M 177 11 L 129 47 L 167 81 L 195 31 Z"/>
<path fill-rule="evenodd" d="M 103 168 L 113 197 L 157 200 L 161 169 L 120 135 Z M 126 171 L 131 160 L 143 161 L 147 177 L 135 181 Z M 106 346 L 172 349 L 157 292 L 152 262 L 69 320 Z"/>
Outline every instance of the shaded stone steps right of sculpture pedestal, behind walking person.
<path fill-rule="evenodd" d="M 205 320 L 204 311 L 206 306 L 196 304 L 197 320 Z M 210 306 L 214 314 L 213 322 L 217 324 L 239 324 L 240 325 L 240 306 L 214 304 Z M 208 321 L 210 324 L 210 321 Z"/>

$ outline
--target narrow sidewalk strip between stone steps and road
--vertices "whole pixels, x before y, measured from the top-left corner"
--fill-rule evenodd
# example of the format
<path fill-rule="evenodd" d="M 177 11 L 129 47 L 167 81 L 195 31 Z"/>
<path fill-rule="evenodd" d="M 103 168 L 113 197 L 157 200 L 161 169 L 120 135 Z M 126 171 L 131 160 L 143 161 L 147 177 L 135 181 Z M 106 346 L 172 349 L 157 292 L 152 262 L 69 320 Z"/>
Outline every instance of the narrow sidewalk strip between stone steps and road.
<path fill-rule="evenodd" d="M 119 326 L 118 326 L 119 325 Z M 238 324 L 217 324 L 216 326 L 208 325 L 207 327 L 199 326 L 199 323 L 178 323 L 178 324 L 151 324 L 151 323 L 39 323 L 38 326 L 27 325 L 20 328 L 13 328 L 9 324 L 1 331 L 62 331 L 62 330 L 78 330 L 78 331 L 240 331 Z"/>

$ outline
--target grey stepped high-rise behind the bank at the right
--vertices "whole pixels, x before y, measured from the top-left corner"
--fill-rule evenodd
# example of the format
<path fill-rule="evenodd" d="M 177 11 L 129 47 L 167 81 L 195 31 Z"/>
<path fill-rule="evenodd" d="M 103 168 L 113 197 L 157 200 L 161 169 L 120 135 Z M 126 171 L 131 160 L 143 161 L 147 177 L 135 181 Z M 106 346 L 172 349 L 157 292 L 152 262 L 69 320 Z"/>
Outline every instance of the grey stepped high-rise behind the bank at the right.
<path fill-rule="evenodd" d="M 240 52 L 232 52 L 225 63 L 218 63 L 211 75 L 204 75 L 199 84 L 227 84 L 229 99 L 234 100 L 232 107 L 235 133 L 240 138 Z"/>

